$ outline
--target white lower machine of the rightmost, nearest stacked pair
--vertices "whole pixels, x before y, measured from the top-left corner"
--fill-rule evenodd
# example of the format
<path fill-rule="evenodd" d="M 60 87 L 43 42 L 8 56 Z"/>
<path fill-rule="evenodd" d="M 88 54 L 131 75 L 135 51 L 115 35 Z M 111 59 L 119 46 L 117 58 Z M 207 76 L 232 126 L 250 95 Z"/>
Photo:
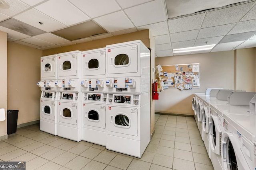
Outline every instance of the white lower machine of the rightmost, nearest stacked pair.
<path fill-rule="evenodd" d="M 108 94 L 106 148 L 141 158 L 150 142 L 150 92 Z"/>

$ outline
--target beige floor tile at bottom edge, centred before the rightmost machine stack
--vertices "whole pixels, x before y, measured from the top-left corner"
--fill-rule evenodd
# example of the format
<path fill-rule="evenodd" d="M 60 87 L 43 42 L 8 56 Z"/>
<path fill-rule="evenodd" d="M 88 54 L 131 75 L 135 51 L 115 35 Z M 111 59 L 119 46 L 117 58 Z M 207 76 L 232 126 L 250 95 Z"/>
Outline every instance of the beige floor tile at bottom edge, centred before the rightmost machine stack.
<path fill-rule="evenodd" d="M 122 155 L 116 155 L 116 157 L 109 163 L 109 165 L 125 170 L 126 168 L 128 168 L 131 162 L 132 158 Z"/>

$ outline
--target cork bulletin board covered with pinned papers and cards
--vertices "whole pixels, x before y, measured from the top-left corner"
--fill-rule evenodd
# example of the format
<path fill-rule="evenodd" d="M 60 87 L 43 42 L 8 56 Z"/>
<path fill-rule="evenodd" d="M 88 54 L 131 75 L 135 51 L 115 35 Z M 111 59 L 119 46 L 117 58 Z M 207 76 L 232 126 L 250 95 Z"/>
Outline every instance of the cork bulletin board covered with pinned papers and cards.
<path fill-rule="evenodd" d="M 199 63 L 162 66 L 160 72 L 163 88 L 192 90 L 199 88 Z"/>

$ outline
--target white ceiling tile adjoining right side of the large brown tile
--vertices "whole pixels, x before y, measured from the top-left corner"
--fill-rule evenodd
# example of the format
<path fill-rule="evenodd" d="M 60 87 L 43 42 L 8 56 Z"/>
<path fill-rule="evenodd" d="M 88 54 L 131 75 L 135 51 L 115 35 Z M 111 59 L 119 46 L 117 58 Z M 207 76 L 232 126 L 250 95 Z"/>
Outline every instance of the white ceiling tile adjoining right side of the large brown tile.
<path fill-rule="evenodd" d="M 122 11 L 95 18 L 94 21 L 96 21 L 110 33 L 134 27 L 134 25 L 132 25 L 131 21 Z"/>

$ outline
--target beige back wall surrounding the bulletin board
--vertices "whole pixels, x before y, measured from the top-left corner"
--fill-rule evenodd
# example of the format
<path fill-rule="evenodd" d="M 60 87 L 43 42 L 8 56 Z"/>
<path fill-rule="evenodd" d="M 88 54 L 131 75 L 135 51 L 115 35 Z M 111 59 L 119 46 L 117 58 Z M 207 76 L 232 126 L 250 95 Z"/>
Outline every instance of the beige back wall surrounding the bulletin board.
<path fill-rule="evenodd" d="M 200 88 L 183 91 L 177 88 L 165 89 L 155 102 L 155 111 L 192 115 L 191 101 L 194 93 L 204 93 L 206 88 L 234 89 L 234 53 L 223 51 L 156 58 L 155 65 L 162 66 L 199 63 Z"/>

